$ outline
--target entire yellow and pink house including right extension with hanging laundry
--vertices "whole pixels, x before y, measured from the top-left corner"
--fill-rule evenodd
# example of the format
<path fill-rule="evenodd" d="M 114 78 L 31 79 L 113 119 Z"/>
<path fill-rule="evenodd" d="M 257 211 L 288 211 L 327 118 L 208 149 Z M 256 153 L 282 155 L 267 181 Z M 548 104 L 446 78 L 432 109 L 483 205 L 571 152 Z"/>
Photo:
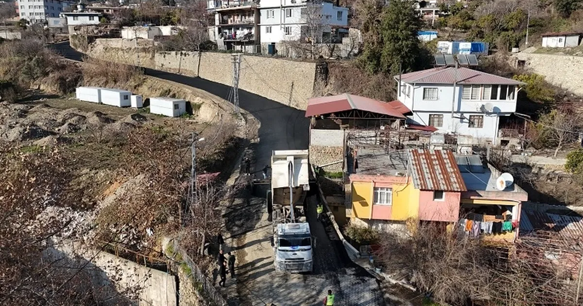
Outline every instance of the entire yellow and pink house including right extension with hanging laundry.
<path fill-rule="evenodd" d="M 348 176 L 353 224 L 399 231 L 429 221 L 496 245 L 518 237 L 528 194 L 511 182 L 500 188 L 500 171 L 480 156 L 379 148 L 359 149 L 356 160 Z"/>

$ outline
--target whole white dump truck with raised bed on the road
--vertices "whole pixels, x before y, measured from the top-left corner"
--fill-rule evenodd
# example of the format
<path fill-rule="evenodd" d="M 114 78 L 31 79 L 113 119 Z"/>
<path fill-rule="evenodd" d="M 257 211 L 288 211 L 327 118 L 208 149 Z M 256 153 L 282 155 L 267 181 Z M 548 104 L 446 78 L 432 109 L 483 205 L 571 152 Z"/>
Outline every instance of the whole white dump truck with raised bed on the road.
<path fill-rule="evenodd" d="M 308 168 L 308 150 L 272 152 L 267 202 L 273 222 L 273 262 L 279 271 L 312 272 L 312 236 L 305 219 Z"/>

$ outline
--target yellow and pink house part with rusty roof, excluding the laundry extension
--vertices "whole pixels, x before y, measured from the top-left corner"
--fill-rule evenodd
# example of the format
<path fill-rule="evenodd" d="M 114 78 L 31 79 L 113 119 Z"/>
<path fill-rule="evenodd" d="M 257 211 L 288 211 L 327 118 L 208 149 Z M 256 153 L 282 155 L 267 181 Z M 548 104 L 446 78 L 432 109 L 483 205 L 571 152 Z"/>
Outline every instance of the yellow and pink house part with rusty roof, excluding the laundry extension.
<path fill-rule="evenodd" d="M 467 189 L 452 152 L 359 149 L 356 160 L 349 174 L 352 223 L 390 230 L 408 220 L 458 221 Z"/>

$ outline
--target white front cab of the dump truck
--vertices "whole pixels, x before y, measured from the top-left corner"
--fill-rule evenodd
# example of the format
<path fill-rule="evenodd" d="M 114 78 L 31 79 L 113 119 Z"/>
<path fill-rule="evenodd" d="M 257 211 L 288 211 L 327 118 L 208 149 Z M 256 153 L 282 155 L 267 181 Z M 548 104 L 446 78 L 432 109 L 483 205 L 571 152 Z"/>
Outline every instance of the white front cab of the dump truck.
<path fill-rule="evenodd" d="M 312 272 L 312 237 L 308 223 L 280 223 L 275 243 L 275 269 Z"/>

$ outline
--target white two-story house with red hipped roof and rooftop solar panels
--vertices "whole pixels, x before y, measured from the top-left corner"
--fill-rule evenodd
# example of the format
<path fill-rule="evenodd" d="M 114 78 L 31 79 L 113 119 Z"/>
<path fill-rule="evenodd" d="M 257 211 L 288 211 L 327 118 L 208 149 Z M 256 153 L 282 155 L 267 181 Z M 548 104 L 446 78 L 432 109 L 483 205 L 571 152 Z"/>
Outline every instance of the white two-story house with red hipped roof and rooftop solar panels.
<path fill-rule="evenodd" d="M 399 101 L 413 112 L 411 121 L 434 126 L 437 133 L 457 133 L 472 136 L 476 143 L 493 144 L 497 143 L 500 117 L 516 111 L 518 86 L 525 84 L 454 67 L 405 73 L 394 78 L 399 87 Z"/>

